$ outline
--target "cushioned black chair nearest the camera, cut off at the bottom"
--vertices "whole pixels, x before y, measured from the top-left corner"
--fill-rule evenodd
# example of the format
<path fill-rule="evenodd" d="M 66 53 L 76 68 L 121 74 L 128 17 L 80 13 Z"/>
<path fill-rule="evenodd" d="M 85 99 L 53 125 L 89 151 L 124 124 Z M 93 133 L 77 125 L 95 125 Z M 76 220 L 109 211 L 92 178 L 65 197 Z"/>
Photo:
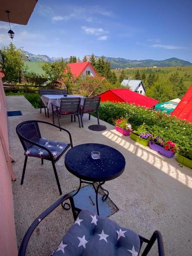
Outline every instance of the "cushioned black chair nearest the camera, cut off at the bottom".
<path fill-rule="evenodd" d="M 143 243 L 146 243 L 141 256 L 150 252 L 157 240 L 158 255 L 164 256 L 161 233 L 155 231 L 150 240 L 139 236 L 131 229 L 120 227 L 116 222 L 99 217 L 89 210 L 75 208 L 73 197 L 65 195 L 42 212 L 31 224 L 20 245 L 18 255 L 24 256 L 29 239 L 38 224 L 63 201 L 69 199 L 75 223 L 62 238 L 58 248 L 52 254 L 66 256 L 137 256 Z M 48 223 L 47 223 L 48 224 Z"/>

